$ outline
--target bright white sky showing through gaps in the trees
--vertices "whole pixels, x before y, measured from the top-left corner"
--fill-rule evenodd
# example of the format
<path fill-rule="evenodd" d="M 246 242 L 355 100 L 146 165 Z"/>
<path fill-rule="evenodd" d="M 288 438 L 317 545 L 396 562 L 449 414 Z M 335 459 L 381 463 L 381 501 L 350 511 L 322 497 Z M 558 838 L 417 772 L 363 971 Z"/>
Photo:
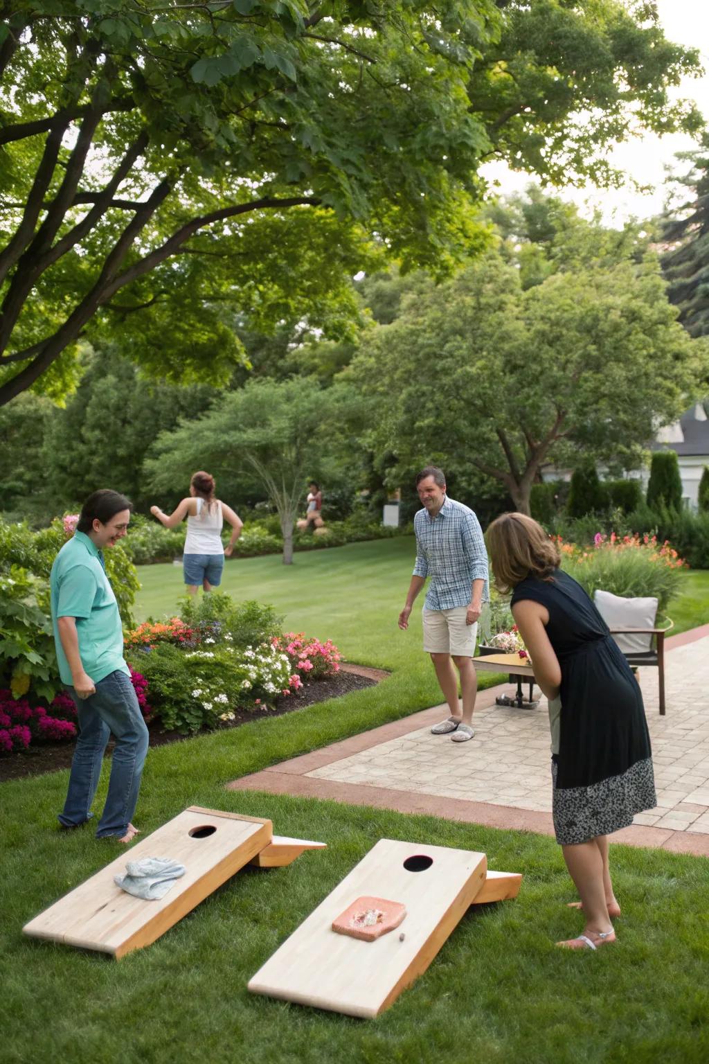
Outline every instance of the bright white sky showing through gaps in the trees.
<path fill-rule="evenodd" d="M 657 0 L 657 7 L 665 36 L 678 44 L 698 48 L 707 71 L 703 78 L 685 79 L 673 90 L 673 96 L 694 100 L 709 119 L 709 3 L 707 0 Z M 614 165 L 642 184 L 653 185 L 652 193 L 637 193 L 630 186 L 602 190 L 588 185 L 580 189 L 562 189 L 559 195 L 581 207 L 588 205 L 589 210 L 601 206 L 607 222 L 622 225 L 630 216 L 651 217 L 662 210 L 666 196 L 663 187 L 664 167 L 673 165 L 676 152 L 692 150 L 694 147 L 695 142 L 690 136 L 672 134 L 658 137 L 646 134 L 615 149 L 611 156 Z M 503 195 L 521 192 L 534 180 L 527 174 L 512 172 L 503 163 L 484 167 L 483 173 L 488 180 L 500 182 L 499 192 Z"/>

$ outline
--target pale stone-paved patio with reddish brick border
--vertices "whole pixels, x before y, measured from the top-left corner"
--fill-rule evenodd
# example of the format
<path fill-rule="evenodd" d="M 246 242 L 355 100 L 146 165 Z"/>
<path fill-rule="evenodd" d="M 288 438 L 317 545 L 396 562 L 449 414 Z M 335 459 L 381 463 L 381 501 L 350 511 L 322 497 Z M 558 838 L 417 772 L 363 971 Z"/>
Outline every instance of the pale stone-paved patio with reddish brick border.
<path fill-rule="evenodd" d="M 709 855 L 709 626 L 668 641 L 664 717 L 657 681 L 657 669 L 641 669 L 658 805 L 613 838 Z M 445 715 L 435 706 L 230 787 L 553 833 L 546 701 L 537 710 L 497 706 L 501 691 L 509 686 L 479 695 L 470 743 L 431 734 Z"/>

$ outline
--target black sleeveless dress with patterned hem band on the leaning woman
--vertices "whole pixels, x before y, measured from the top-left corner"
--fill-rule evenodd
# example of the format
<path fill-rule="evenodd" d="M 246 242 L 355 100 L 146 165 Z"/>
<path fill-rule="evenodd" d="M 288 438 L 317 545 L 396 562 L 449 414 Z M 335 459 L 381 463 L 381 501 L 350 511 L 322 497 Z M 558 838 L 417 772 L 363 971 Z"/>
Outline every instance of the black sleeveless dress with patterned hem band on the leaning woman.
<path fill-rule="evenodd" d="M 527 577 L 511 604 L 525 599 L 548 611 L 546 634 L 561 666 L 554 830 L 561 845 L 585 843 L 657 803 L 642 694 L 603 617 L 568 573 Z"/>

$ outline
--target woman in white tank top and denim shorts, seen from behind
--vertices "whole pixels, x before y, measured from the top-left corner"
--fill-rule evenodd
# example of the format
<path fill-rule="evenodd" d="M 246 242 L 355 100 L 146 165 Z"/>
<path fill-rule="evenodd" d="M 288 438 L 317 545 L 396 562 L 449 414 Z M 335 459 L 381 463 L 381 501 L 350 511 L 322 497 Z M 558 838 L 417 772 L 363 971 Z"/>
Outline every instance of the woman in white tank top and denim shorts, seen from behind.
<path fill-rule="evenodd" d="M 205 592 L 219 586 L 224 568 L 224 554 L 229 558 L 232 553 L 243 528 L 241 518 L 225 502 L 215 498 L 215 486 L 214 477 L 200 470 L 192 475 L 189 497 L 183 499 L 169 517 L 159 506 L 150 508 L 151 514 L 162 521 L 166 529 L 176 528 L 185 517 L 187 518 L 183 568 L 190 595 L 197 595 L 200 585 Z M 232 526 L 232 537 L 225 548 L 221 542 L 224 518 Z"/>

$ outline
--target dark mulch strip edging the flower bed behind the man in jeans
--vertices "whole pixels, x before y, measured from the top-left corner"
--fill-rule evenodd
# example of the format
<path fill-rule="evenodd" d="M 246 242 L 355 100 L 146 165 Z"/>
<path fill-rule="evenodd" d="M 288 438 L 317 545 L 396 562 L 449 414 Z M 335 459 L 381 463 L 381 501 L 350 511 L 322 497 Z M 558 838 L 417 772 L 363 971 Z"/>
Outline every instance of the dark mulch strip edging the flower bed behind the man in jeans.
<path fill-rule="evenodd" d="M 351 666 L 350 666 L 351 667 Z M 374 670 L 369 670 L 372 674 Z M 339 698 L 340 695 L 349 695 L 351 691 L 361 691 L 362 687 L 372 687 L 385 674 L 381 674 L 376 679 L 371 676 L 361 676 L 358 672 L 344 671 L 324 680 L 316 680 L 307 683 L 300 691 L 294 691 L 291 695 L 281 696 L 275 703 L 274 710 L 263 710 L 259 705 L 253 710 L 242 710 L 237 713 L 236 719 L 226 727 L 238 728 L 240 725 L 251 724 L 252 720 L 260 720 L 265 717 L 280 717 L 284 713 L 291 713 L 293 710 L 302 710 L 306 705 L 314 705 L 316 702 L 324 702 L 328 698 Z M 150 732 L 150 745 L 163 746 L 165 743 L 184 743 L 193 736 L 181 735 L 179 732 L 163 731 L 159 720 L 148 725 Z M 212 734 L 206 731 L 198 734 Z M 55 772 L 61 768 L 69 768 L 73 757 L 73 743 L 44 743 L 32 745 L 27 750 L 18 753 L 11 753 L 0 758 L 0 782 L 6 780 L 18 780 L 24 776 L 39 776 L 41 772 Z M 108 744 L 107 753 L 113 749 L 113 739 Z"/>

